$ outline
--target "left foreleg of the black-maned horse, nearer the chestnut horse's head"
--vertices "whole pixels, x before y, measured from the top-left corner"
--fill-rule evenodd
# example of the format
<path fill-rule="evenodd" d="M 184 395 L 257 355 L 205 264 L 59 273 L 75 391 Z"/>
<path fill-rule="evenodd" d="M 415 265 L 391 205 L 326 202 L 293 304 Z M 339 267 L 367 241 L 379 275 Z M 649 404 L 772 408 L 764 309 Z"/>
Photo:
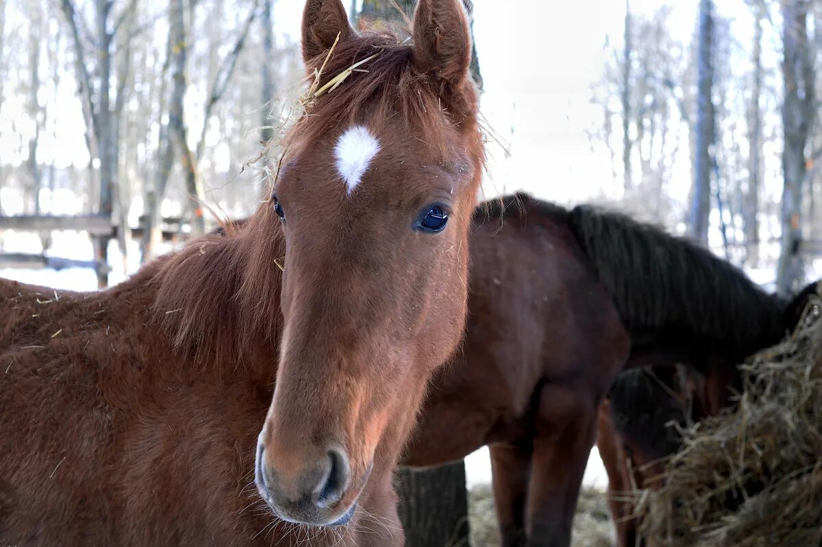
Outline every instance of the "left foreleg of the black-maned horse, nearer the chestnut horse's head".
<path fill-rule="evenodd" d="M 525 499 L 528 495 L 531 447 L 494 443 L 489 448 L 501 545 L 525 545 Z"/>

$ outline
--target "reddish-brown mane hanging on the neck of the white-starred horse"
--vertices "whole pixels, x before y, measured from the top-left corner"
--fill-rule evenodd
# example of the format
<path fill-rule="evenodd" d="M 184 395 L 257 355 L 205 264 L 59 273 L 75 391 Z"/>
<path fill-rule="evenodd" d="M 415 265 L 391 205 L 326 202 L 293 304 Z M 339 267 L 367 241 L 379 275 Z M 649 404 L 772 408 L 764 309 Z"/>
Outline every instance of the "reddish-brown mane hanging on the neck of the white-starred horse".
<path fill-rule="evenodd" d="M 237 234 L 194 239 L 169 257 L 155 276 L 155 311 L 178 353 L 198 364 L 270 368 L 283 255 L 279 221 L 258 211 Z"/>

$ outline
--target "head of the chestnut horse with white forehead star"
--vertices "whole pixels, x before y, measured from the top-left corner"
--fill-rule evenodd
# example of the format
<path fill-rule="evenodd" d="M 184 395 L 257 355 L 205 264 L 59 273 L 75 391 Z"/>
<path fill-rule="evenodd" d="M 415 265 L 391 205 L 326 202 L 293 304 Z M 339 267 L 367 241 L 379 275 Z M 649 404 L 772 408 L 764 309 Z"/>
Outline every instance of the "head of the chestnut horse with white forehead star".
<path fill-rule="evenodd" d="M 483 146 L 461 2 L 421 0 L 413 38 L 357 35 L 340 0 L 303 14 L 320 89 L 349 76 L 309 97 L 258 212 L 282 224 L 286 250 L 256 484 L 290 522 L 344 524 L 369 484 L 390 487 L 427 379 L 464 327 Z"/>

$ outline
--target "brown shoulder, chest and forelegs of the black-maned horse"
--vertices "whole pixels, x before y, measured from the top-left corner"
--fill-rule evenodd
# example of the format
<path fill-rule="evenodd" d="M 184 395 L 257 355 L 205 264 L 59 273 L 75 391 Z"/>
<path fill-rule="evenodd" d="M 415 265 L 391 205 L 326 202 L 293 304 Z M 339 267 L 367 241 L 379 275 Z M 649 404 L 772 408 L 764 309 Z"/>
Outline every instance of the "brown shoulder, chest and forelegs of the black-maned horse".
<path fill-rule="evenodd" d="M 561 207 L 506 197 L 478 210 L 469 319 L 436 373 L 409 466 L 491 449 L 503 545 L 568 545 L 599 401 L 630 339 Z"/>

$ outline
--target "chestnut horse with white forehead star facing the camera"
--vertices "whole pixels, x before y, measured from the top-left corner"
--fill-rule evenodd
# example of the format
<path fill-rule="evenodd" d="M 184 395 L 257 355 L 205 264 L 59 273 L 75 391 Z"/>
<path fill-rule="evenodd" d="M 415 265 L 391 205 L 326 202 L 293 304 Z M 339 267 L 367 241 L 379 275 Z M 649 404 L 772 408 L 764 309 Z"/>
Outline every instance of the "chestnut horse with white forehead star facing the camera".
<path fill-rule="evenodd" d="M 392 471 L 463 331 L 483 168 L 461 2 L 413 36 L 309 0 L 318 86 L 238 234 L 104 292 L 0 282 L 3 545 L 403 543 Z"/>

